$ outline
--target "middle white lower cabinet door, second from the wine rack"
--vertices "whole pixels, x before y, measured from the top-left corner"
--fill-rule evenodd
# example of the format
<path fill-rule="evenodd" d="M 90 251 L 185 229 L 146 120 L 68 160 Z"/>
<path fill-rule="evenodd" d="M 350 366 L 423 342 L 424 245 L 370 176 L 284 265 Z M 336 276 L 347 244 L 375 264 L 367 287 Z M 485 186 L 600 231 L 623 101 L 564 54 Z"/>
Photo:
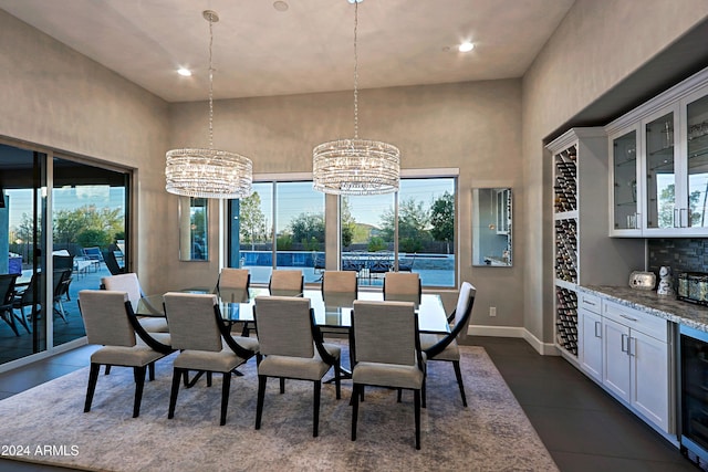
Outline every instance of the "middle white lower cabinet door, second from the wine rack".
<path fill-rule="evenodd" d="M 610 318 L 603 318 L 603 379 L 602 382 L 623 400 L 629 402 L 631 359 L 627 353 L 629 328 Z"/>

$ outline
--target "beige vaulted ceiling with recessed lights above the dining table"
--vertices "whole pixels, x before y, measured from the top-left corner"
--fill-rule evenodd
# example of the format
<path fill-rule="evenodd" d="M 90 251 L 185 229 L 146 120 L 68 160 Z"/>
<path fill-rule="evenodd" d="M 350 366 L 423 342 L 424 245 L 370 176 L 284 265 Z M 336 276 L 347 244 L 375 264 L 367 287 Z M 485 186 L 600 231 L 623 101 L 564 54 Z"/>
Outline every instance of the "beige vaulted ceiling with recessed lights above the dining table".
<path fill-rule="evenodd" d="M 365 0 L 361 88 L 521 77 L 574 0 Z M 0 0 L 0 9 L 168 102 L 352 90 L 347 0 Z M 476 48 L 461 53 L 457 46 Z M 177 69 L 189 67 L 183 77 Z"/>

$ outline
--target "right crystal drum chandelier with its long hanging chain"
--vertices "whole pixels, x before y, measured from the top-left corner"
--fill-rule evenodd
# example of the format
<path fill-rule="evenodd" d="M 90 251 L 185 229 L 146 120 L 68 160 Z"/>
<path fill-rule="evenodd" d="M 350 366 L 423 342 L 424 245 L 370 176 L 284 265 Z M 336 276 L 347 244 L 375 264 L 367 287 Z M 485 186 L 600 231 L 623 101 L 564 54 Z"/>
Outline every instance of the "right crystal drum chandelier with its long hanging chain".
<path fill-rule="evenodd" d="M 312 150 L 313 188 L 334 195 L 379 195 L 398 190 L 400 151 L 358 137 L 358 3 L 354 3 L 354 138 L 323 143 Z"/>

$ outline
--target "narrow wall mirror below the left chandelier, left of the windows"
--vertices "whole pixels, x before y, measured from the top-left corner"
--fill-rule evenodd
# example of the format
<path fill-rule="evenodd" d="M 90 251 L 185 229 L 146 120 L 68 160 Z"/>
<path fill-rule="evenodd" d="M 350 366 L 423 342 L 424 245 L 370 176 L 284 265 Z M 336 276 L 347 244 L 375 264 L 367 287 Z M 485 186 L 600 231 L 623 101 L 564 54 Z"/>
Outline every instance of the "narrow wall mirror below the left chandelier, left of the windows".
<path fill-rule="evenodd" d="M 179 260 L 209 260 L 209 200 L 179 197 Z"/>

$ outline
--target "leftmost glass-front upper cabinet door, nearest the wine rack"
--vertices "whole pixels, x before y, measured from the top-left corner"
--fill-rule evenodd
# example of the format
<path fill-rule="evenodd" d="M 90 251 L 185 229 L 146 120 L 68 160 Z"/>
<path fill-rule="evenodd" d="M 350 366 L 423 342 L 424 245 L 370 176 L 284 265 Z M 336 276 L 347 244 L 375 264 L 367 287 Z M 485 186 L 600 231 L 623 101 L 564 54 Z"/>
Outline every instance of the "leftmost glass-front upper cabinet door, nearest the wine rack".
<path fill-rule="evenodd" d="M 639 127 L 623 129 L 610 137 L 612 156 L 613 211 L 610 232 L 612 235 L 639 235 L 641 183 L 637 156 Z"/>

